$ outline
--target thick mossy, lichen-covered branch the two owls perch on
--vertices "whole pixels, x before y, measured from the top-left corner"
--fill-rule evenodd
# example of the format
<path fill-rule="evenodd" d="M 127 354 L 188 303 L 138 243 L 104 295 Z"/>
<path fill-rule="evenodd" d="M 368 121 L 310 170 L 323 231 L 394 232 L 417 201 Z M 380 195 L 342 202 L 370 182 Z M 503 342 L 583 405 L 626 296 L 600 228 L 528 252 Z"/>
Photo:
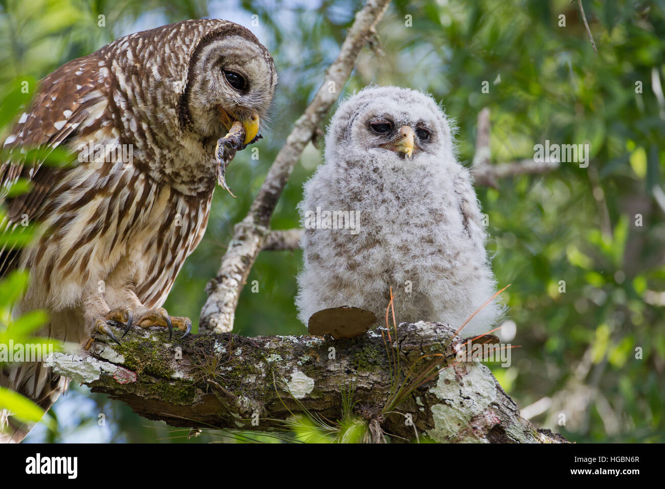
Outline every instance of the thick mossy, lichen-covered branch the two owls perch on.
<path fill-rule="evenodd" d="M 396 335 L 392 331 L 392 345 L 381 331 L 386 333 L 337 341 L 213 333 L 168 343 L 163 329 L 134 329 L 122 345 L 95 335 L 88 353 L 56 353 L 53 365 L 93 392 L 172 426 L 265 432 L 285 428 L 284 420 L 305 410 L 334 426 L 342 418 L 343 390 L 352 392 L 353 415 L 374 428 L 374 441 L 386 433 L 393 440 L 567 442 L 521 418 L 487 367 L 454 361 L 451 327 L 403 323 Z M 410 369 L 409 379 L 420 375 L 432 359 L 424 354 L 453 361 L 390 407 L 394 379 L 405 383 Z M 397 356 L 401 367 L 394 377 L 389 358 Z"/>

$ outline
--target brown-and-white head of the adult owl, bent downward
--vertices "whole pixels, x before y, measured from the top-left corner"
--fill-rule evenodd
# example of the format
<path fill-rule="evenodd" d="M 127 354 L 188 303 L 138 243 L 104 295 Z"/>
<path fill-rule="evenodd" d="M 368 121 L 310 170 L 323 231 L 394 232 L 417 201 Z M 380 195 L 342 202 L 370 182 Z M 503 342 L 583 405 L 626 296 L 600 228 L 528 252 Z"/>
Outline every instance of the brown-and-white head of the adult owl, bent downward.
<path fill-rule="evenodd" d="M 220 19 L 134 33 L 100 54 L 112 60 L 120 89 L 135 94 L 135 115 L 161 146 L 180 134 L 214 146 L 236 120 L 245 127 L 245 143 L 250 142 L 277 85 L 267 49 L 245 27 Z"/>

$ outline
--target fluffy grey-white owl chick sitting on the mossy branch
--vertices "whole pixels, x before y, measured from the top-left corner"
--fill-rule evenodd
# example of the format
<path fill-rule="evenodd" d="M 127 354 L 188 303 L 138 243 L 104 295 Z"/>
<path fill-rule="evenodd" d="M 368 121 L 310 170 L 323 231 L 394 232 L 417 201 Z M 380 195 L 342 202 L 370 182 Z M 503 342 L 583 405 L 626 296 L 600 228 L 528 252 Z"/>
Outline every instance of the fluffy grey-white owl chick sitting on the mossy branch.
<path fill-rule="evenodd" d="M 446 116 L 416 90 L 365 88 L 340 106 L 299 210 L 296 305 L 305 324 L 344 305 L 382 318 L 392 287 L 398 322 L 460 327 L 495 293 L 471 176 Z M 501 311 L 489 303 L 465 335 L 489 331 Z"/>

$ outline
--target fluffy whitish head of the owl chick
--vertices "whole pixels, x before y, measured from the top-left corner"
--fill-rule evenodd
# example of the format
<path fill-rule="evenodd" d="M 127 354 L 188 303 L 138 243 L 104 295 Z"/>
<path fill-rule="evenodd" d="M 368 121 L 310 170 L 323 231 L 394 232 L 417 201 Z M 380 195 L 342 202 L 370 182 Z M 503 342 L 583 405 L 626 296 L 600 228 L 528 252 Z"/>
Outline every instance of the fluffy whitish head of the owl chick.
<path fill-rule="evenodd" d="M 412 166 L 428 156 L 453 158 L 451 128 L 431 96 L 398 86 L 370 86 L 348 98 L 332 117 L 327 161 Z"/>

